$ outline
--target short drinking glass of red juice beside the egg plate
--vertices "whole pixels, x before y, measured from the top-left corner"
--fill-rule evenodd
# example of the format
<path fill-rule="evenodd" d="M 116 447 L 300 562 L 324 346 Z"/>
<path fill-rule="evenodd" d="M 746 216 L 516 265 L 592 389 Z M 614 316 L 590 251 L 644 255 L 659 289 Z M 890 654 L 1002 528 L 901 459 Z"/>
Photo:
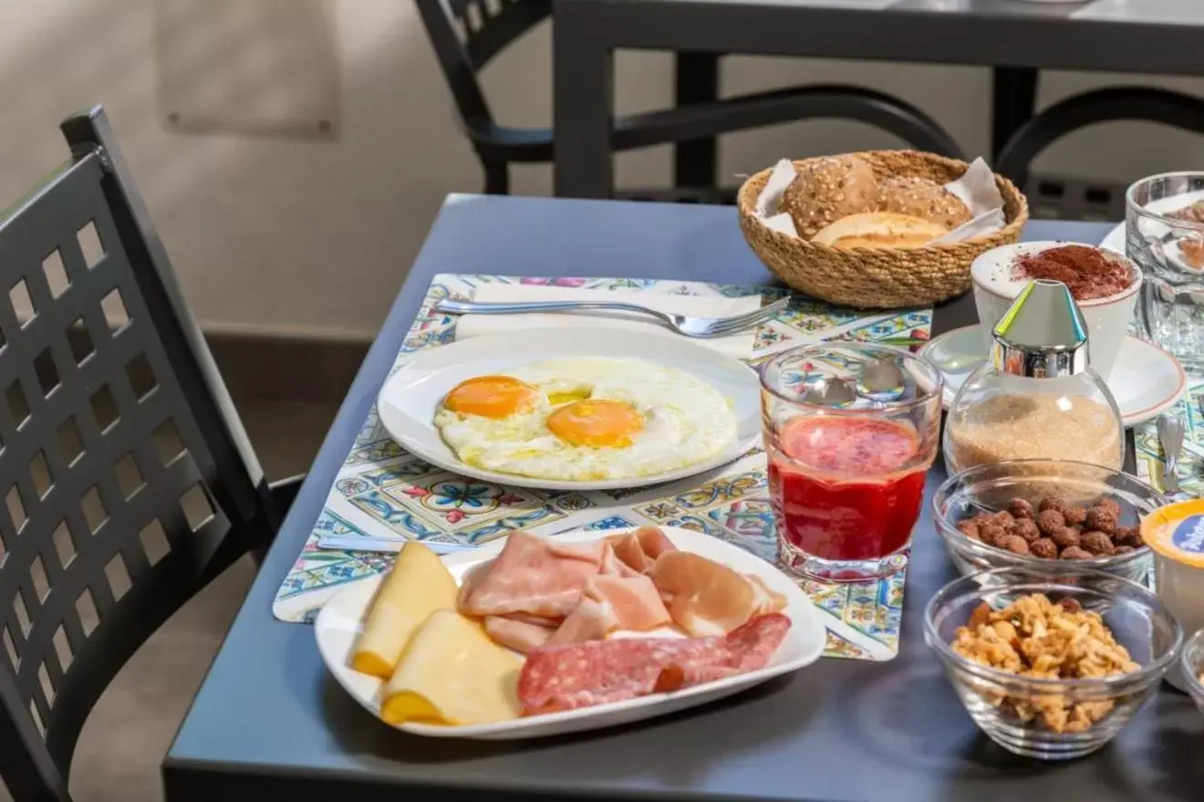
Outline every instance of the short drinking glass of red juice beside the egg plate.
<path fill-rule="evenodd" d="M 905 565 L 939 444 L 940 371 L 887 346 L 821 343 L 761 366 L 778 559 L 828 582 Z"/>

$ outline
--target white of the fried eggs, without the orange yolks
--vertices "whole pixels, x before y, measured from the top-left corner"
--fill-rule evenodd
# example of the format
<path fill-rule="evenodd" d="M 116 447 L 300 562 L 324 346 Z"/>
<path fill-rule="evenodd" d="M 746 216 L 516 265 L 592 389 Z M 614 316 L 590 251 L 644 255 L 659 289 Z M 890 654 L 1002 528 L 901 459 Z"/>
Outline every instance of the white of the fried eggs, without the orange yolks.
<path fill-rule="evenodd" d="M 491 419 L 444 408 L 443 441 L 488 471 L 572 482 L 651 476 L 710 459 L 736 438 L 731 403 L 707 382 L 642 359 L 547 360 L 506 371 L 536 388 L 533 408 Z M 631 405 L 644 427 L 625 448 L 573 446 L 548 429 L 556 408 L 584 399 Z"/>

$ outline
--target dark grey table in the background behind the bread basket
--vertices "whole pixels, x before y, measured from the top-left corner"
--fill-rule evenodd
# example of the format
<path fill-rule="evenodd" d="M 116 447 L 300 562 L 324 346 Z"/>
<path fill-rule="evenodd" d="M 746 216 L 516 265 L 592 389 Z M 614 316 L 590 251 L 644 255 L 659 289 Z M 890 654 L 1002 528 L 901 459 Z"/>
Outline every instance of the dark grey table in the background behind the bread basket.
<path fill-rule="evenodd" d="M 1199 0 L 554 0 L 553 14 L 554 179 L 566 197 L 610 190 L 620 47 L 1204 75 Z M 996 112 L 1004 129 L 1027 117 Z"/>

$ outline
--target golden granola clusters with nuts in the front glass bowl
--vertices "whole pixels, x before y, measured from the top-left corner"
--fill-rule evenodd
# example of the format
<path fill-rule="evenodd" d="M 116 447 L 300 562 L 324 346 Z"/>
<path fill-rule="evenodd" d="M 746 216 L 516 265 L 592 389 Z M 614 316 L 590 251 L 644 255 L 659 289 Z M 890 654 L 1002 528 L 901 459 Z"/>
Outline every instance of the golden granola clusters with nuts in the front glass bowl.
<path fill-rule="evenodd" d="M 1021 596 L 998 611 L 980 606 L 957 627 L 952 649 L 984 666 L 1040 679 L 1110 677 L 1140 668 L 1098 613 L 1072 598 L 1051 602 L 1044 594 Z M 1115 706 L 1112 700 L 1073 700 L 1066 694 L 986 696 L 1022 723 L 1037 721 L 1051 732 L 1082 732 Z"/>

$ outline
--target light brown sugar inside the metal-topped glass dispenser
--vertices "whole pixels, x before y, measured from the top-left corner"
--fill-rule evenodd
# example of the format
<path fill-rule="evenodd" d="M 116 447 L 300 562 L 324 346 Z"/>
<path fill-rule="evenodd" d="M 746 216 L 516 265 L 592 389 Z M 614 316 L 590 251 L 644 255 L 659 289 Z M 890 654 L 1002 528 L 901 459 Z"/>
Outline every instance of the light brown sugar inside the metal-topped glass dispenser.
<path fill-rule="evenodd" d="M 1060 459 L 1120 468 L 1125 443 L 1111 409 L 1055 393 L 997 395 L 946 423 L 946 458 L 957 470 L 1023 459 Z"/>

